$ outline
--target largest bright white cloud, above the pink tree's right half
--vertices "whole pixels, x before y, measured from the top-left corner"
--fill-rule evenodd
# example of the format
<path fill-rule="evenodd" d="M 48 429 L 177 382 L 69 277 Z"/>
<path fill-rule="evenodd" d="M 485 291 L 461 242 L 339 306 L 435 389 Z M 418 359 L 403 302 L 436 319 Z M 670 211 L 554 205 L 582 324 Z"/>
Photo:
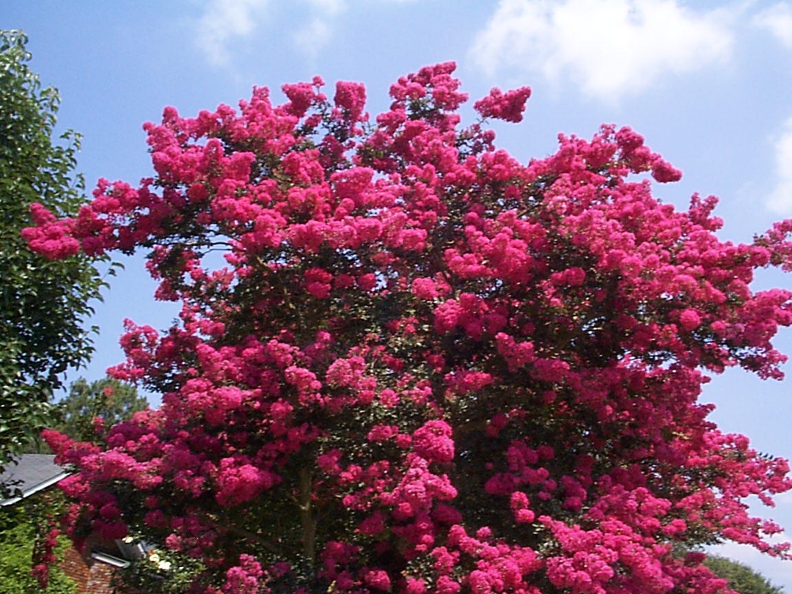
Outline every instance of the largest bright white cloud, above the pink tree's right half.
<path fill-rule="evenodd" d="M 489 74 L 540 70 L 618 101 L 664 75 L 725 62 L 733 35 L 723 15 L 676 0 L 501 0 L 470 54 Z"/>

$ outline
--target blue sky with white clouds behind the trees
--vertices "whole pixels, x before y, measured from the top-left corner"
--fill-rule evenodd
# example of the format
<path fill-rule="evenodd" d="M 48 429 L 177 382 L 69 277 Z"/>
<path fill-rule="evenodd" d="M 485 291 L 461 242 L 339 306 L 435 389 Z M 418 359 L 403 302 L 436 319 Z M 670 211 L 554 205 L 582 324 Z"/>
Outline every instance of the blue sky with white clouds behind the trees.
<path fill-rule="evenodd" d="M 792 2 L 5 0 L 0 28 L 29 35 L 33 69 L 60 89 L 61 125 L 84 135 L 89 189 L 99 177 L 151 174 L 141 125 L 166 105 L 192 116 L 236 105 L 254 85 L 277 95 L 320 74 L 365 82 L 375 114 L 398 76 L 455 60 L 471 99 L 492 86 L 533 89 L 524 122 L 497 127 L 498 145 L 522 161 L 550 154 L 558 132 L 630 125 L 684 172 L 656 188 L 662 200 L 683 208 L 692 192 L 720 196 L 722 238 L 747 242 L 792 217 Z M 473 119 L 469 106 L 463 116 Z M 89 379 L 120 361 L 123 318 L 163 328 L 175 313 L 154 303 L 139 259 L 126 265 L 97 305 Z M 756 288 L 790 284 L 767 273 Z M 792 352 L 792 331 L 777 342 Z M 789 386 L 734 371 L 703 399 L 725 431 L 792 458 Z M 767 516 L 792 535 L 792 495 Z M 792 592 L 792 562 L 724 552 Z"/>

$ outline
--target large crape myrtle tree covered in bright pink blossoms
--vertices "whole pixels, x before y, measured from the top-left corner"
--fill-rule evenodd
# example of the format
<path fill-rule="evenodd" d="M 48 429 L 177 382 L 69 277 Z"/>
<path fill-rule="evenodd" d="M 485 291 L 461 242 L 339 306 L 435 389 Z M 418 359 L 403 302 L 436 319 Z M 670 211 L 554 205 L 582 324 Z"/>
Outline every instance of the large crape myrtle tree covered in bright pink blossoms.
<path fill-rule="evenodd" d="M 530 90 L 461 128 L 453 70 L 373 119 L 320 78 L 167 108 L 155 177 L 33 207 L 32 249 L 145 249 L 181 302 L 162 333 L 127 322 L 112 370 L 162 407 L 102 447 L 48 435 L 79 469 L 72 537 L 156 547 L 130 591 L 714 593 L 690 546 L 787 556 L 745 504 L 792 487 L 786 461 L 698 398 L 725 367 L 781 378 L 792 292 L 749 283 L 790 268 L 792 221 L 721 241 L 713 197 L 652 196 L 641 174 L 680 172 L 629 128 L 520 164 L 484 122 Z"/>

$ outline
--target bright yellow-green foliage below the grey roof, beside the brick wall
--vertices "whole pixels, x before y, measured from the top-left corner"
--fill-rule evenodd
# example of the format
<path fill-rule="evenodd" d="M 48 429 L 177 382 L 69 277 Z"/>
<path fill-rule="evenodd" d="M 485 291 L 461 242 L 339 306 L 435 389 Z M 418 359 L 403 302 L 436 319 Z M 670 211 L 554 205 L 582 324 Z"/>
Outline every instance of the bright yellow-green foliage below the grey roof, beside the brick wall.
<path fill-rule="evenodd" d="M 74 581 L 56 565 L 50 567 L 47 588 L 42 588 L 31 575 L 36 523 L 40 520 L 40 514 L 31 513 L 29 506 L 0 509 L 0 594 L 74 594 L 76 591 Z M 68 546 L 68 539 L 60 537 L 55 550 L 57 558 L 62 558 Z"/>

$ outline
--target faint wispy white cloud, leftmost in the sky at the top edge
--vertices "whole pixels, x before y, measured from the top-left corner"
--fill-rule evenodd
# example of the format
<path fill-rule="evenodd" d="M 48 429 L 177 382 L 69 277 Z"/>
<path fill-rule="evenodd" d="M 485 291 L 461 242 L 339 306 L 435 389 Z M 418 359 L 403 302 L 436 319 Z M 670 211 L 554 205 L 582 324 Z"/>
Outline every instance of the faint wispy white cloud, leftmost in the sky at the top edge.
<path fill-rule="evenodd" d="M 211 0 L 197 23 L 196 42 L 212 64 L 231 61 L 231 41 L 250 36 L 264 20 L 268 0 Z"/>

